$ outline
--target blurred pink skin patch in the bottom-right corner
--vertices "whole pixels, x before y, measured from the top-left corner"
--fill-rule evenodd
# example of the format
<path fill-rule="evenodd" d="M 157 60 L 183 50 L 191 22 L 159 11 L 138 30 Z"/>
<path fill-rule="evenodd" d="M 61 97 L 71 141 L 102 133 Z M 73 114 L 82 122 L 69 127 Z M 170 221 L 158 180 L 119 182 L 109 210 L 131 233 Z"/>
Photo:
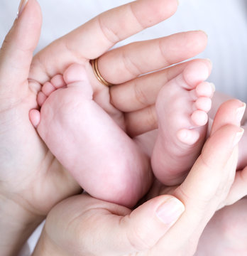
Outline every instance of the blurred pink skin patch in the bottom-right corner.
<path fill-rule="evenodd" d="M 202 233 L 195 255 L 247 255 L 246 212 L 246 198 L 218 210 Z"/>

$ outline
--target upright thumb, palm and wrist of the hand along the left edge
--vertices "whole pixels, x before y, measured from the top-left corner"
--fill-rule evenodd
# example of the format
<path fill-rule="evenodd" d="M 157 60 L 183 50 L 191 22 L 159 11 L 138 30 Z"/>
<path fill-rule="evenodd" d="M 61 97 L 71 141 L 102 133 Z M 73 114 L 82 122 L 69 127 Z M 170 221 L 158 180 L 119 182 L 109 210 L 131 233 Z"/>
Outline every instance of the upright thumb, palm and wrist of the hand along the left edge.
<path fill-rule="evenodd" d="M 28 73 L 42 18 L 35 0 L 21 9 L 0 51 L 0 247 L 4 256 L 16 255 L 57 202 L 81 191 L 28 118 L 37 107 Z"/>

